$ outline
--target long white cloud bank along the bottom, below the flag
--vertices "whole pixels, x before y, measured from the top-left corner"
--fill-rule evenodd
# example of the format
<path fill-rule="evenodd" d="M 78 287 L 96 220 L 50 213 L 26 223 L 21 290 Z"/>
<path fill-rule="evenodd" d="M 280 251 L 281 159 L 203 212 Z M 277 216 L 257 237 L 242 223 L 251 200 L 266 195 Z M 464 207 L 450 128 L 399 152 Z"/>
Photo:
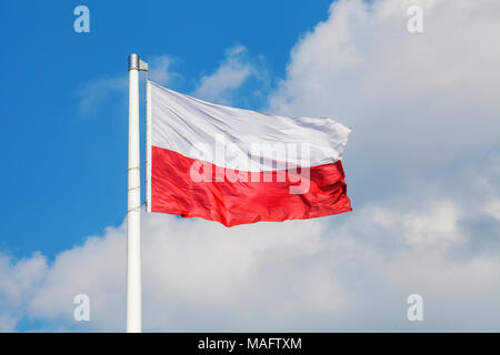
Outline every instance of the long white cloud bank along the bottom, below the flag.
<path fill-rule="evenodd" d="M 423 329 L 497 329 L 500 248 L 467 251 L 476 239 L 460 227 L 471 219 L 467 205 L 423 203 L 409 207 L 396 199 L 343 219 L 233 229 L 143 214 L 144 329 L 411 331 L 411 293 L 427 302 Z M 3 267 L 16 276 L 2 290 L 38 280 L 21 287 L 22 297 L 7 292 L 24 300 L 10 314 L 60 331 L 122 331 L 124 226 L 60 253 L 50 266 L 38 254 Z M 72 320 L 79 293 L 90 296 L 90 324 Z"/>

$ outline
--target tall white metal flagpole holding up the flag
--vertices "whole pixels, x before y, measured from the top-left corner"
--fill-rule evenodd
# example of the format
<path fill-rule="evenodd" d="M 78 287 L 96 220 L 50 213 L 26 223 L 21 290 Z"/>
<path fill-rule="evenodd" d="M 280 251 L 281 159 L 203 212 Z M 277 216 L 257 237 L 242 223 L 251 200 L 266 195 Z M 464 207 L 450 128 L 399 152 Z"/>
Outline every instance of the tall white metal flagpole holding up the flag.
<path fill-rule="evenodd" d="M 129 182 L 127 210 L 127 332 L 141 326 L 141 169 L 139 148 L 139 71 L 148 70 L 138 54 L 129 55 Z"/>

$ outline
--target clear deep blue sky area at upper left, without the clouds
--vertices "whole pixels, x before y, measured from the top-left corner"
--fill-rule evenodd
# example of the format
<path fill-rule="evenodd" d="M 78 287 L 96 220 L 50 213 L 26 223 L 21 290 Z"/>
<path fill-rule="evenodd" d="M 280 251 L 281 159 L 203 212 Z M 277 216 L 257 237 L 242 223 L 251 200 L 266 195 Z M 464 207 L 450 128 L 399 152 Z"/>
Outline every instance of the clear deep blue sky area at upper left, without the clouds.
<path fill-rule="evenodd" d="M 90 33 L 73 31 L 76 1 L 0 4 L 4 68 L 1 149 L 6 186 L 0 250 L 52 257 L 123 220 L 127 101 L 79 112 L 78 92 L 127 74 L 127 55 L 168 54 L 190 92 L 238 43 L 283 75 L 298 38 L 328 17 L 329 1 L 87 1 Z M 298 16 L 300 13 L 300 16 Z M 272 36 L 270 36 L 272 33 Z M 249 109 L 258 109 L 249 106 Z M 143 111 L 142 111 L 143 112 Z"/>

